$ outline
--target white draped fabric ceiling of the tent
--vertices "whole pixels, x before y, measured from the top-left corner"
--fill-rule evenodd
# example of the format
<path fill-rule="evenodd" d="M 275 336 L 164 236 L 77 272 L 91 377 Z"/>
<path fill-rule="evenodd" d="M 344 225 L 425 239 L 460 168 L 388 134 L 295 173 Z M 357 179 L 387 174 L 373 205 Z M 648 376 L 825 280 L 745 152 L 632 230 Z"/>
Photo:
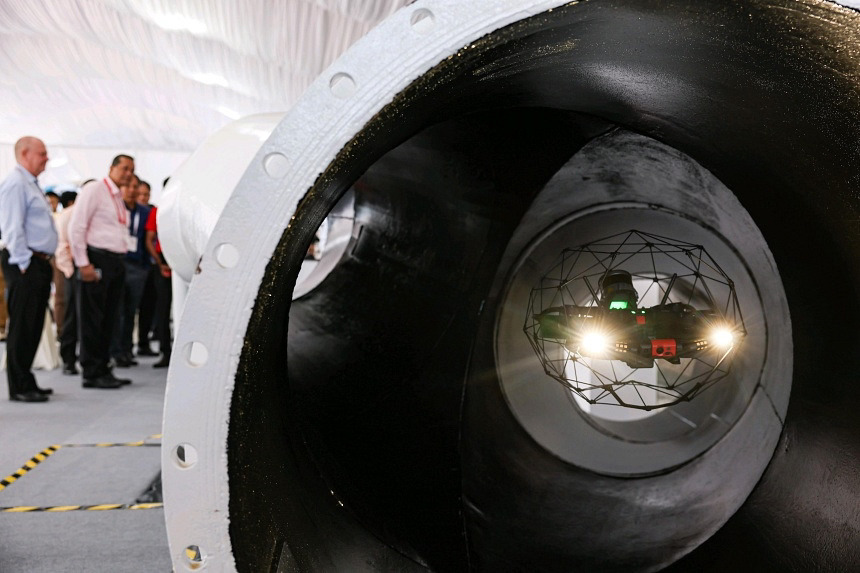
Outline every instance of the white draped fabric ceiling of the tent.
<path fill-rule="evenodd" d="M 231 119 L 289 109 L 408 3 L 0 0 L 0 144 L 187 154 Z"/>

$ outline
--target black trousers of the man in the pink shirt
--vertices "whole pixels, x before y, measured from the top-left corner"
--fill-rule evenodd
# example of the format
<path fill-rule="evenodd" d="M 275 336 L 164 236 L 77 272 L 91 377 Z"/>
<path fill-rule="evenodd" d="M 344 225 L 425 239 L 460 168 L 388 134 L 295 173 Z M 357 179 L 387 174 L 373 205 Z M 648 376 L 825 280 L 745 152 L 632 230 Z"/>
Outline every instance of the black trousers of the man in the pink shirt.
<path fill-rule="evenodd" d="M 124 255 L 87 248 L 87 256 L 102 278 L 79 281 L 77 307 L 84 378 L 98 378 L 110 372 L 110 341 L 116 325 L 125 287 Z"/>

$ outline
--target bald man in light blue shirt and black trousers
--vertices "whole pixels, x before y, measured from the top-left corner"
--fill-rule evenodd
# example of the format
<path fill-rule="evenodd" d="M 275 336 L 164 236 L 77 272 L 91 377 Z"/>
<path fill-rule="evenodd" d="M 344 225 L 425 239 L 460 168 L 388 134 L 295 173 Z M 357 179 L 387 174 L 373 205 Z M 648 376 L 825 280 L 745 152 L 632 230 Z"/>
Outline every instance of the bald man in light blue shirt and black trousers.
<path fill-rule="evenodd" d="M 50 261 L 57 249 L 51 206 L 36 179 L 45 170 L 48 151 L 41 140 L 22 137 L 15 143 L 15 159 L 18 165 L 0 183 L 0 235 L 6 245 L 0 265 L 9 291 L 6 376 L 10 400 L 46 402 L 52 390 L 36 384 L 33 358 L 51 294 Z"/>

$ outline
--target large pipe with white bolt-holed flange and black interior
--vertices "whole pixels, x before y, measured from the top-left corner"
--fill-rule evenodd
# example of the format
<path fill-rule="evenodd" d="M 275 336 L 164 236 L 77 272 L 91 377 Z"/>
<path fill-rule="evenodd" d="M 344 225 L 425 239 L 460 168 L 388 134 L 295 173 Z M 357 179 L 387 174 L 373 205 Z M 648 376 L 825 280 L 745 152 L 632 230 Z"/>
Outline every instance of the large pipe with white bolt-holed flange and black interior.
<path fill-rule="evenodd" d="M 427 0 L 356 44 L 187 258 L 177 570 L 856 568 L 842 4 Z M 345 195 L 343 248 L 294 292 Z M 693 400 L 617 415 L 548 377 L 522 324 L 559 252 L 629 230 L 704 247 L 746 336 Z"/>

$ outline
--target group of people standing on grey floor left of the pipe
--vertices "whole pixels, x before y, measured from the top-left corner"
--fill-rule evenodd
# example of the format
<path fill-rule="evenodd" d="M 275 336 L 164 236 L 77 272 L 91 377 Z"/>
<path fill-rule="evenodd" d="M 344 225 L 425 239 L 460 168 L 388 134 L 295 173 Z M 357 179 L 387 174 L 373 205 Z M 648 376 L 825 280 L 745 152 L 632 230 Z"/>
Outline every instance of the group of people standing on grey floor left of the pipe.
<path fill-rule="evenodd" d="M 135 175 L 134 158 L 117 155 L 106 177 L 60 195 L 38 184 L 48 162 L 44 142 L 22 137 L 15 159 L 0 183 L 9 399 L 45 402 L 53 394 L 33 375 L 52 283 L 63 372 L 80 373 L 84 388 L 131 383 L 114 368 L 138 364 L 135 324 L 136 355 L 157 356 L 150 347 L 154 330 L 161 358 L 153 366 L 168 366 L 171 272 L 158 243 L 151 187 Z"/>

